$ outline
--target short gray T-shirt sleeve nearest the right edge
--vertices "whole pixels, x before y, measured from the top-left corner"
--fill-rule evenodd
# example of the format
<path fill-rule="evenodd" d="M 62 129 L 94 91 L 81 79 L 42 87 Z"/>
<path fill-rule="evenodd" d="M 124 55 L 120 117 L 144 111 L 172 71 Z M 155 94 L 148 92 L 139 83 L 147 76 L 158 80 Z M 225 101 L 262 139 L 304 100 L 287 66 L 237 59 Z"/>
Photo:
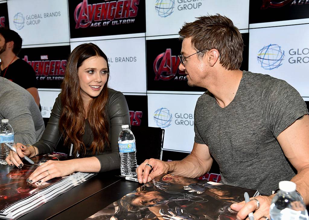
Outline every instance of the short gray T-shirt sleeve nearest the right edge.
<path fill-rule="evenodd" d="M 274 137 L 308 114 L 308 109 L 298 91 L 284 80 L 275 80 L 262 93 L 262 116 Z"/>

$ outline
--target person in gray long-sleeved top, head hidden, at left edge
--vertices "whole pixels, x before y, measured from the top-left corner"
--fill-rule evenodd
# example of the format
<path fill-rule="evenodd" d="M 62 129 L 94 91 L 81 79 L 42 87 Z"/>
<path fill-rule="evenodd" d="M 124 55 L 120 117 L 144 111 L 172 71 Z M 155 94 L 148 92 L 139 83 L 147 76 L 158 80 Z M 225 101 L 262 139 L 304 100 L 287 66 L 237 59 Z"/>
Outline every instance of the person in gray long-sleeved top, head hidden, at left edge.
<path fill-rule="evenodd" d="M 0 120 L 9 119 L 16 143 L 34 144 L 42 136 L 44 121 L 27 90 L 0 77 Z"/>

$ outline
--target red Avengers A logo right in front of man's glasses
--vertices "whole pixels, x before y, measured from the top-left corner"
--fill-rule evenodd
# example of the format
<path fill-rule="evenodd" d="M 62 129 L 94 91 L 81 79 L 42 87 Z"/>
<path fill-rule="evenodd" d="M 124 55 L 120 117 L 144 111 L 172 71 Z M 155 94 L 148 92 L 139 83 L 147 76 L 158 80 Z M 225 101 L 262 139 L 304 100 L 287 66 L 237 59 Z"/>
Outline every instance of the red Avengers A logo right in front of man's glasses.
<path fill-rule="evenodd" d="M 154 71 L 155 80 L 170 80 L 176 74 L 185 75 L 183 70 L 179 70 L 180 59 L 171 55 L 171 49 L 166 49 L 165 53 L 159 54 L 155 58 Z M 174 80 L 186 80 L 186 76 L 176 76 Z"/>

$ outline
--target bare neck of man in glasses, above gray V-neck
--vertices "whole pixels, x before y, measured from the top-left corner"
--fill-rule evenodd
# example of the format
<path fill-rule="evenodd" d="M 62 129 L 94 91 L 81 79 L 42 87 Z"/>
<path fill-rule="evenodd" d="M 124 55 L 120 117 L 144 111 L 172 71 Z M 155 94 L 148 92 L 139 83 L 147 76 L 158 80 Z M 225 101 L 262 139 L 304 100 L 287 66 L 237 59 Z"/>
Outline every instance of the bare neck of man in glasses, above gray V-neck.
<path fill-rule="evenodd" d="M 207 88 L 222 108 L 235 98 L 243 72 L 241 70 L 223 70 L 215 75 L 213 83 Z"/>

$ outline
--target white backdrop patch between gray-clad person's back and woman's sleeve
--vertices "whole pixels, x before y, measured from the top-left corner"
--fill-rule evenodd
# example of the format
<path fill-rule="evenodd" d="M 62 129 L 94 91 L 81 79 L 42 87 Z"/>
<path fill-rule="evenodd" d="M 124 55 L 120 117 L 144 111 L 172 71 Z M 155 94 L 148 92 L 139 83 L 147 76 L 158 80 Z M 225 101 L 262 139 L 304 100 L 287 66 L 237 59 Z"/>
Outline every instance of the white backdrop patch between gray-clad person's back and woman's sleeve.
<path fill-rule="evenodd" d="M 57 90 L 38 89 L 38 90 L 40 96 L 40 104 L 42 107 L 41 114 L 43 118 L 49 118 L 55 100 L 58 97 L 61 90 L 60 89 Z"/>

